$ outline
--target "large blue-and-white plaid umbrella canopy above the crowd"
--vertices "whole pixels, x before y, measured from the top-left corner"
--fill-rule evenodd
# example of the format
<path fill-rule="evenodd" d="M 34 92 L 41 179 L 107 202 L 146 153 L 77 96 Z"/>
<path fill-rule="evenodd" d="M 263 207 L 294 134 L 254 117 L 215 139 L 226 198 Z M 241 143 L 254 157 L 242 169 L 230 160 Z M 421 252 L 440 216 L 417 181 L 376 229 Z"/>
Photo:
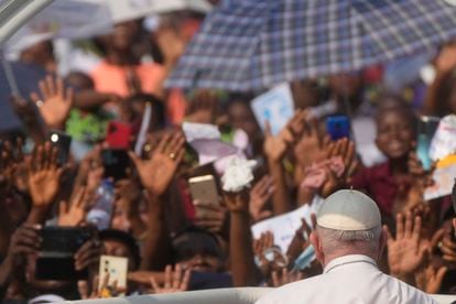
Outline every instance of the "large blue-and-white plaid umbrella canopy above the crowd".
<path fill-rule="evenodd" d="M 360 69 L 456 35 L 444 0 L 227 0 L 209 14 L 167 87 L 261 90 Z"/>

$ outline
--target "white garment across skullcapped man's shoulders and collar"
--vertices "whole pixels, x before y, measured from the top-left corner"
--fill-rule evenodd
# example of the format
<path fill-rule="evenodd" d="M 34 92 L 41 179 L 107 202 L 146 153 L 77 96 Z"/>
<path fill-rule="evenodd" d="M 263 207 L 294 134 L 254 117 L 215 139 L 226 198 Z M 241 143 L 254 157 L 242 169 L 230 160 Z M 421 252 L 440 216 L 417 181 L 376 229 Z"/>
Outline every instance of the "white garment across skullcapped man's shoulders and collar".
<path fill-rule="evenodd" d="M 382 273 L 366 256 L 330 261 L 323 274 L 279 287 L 256 304 L 436 304 L 424 292 Z"/>

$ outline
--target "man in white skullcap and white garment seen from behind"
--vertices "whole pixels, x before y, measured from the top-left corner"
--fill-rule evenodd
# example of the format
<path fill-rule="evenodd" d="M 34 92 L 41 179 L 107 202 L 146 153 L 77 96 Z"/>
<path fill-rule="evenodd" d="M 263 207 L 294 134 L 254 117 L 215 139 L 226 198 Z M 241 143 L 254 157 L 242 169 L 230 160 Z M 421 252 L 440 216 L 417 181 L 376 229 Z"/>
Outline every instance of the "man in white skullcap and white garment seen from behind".
<path fill-rule="evenodd" d="M 323 274 L 279 287 L 256 304 L 437 303 L 378 269 L 387 239 L 377 204 L 360 192 L 338 191 L 322 205 L 311 235 Z"/>

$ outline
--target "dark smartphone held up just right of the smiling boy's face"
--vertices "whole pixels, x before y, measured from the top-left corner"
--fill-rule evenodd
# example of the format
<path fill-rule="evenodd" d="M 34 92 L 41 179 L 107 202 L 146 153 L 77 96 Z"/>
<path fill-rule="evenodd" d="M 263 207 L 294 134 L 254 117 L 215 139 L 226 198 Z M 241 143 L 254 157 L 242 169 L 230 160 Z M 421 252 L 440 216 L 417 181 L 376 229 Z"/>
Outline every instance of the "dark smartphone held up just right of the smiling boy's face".
<path fill-rule="evenodd" d="M 432 160 L 430 156 L 431 141 L 437 130 L 439 119 L 436 117 L 423 116 L 419 121 L 416 139 L 416 155 L 425 171 L 431 170 Z"/>

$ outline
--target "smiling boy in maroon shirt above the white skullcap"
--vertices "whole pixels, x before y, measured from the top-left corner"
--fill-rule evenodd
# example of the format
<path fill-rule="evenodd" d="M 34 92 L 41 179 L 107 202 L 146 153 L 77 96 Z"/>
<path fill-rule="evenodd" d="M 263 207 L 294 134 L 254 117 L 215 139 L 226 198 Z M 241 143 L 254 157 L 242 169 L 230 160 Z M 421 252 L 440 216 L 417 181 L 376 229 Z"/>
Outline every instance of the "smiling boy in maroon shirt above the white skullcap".
<path fill-rule="evenodd" d="M 416 117 L 408 105 L 387 98 L 380 101 L 376 123 L 376 144 L 388 160 L 361 169 L 354 175 L 351 186 L 365 189 L 377 202 L 382 216 L 391 217 L 394 205 L 408 196 L 413 184 L 409 160 L 416 138 Z"/>

